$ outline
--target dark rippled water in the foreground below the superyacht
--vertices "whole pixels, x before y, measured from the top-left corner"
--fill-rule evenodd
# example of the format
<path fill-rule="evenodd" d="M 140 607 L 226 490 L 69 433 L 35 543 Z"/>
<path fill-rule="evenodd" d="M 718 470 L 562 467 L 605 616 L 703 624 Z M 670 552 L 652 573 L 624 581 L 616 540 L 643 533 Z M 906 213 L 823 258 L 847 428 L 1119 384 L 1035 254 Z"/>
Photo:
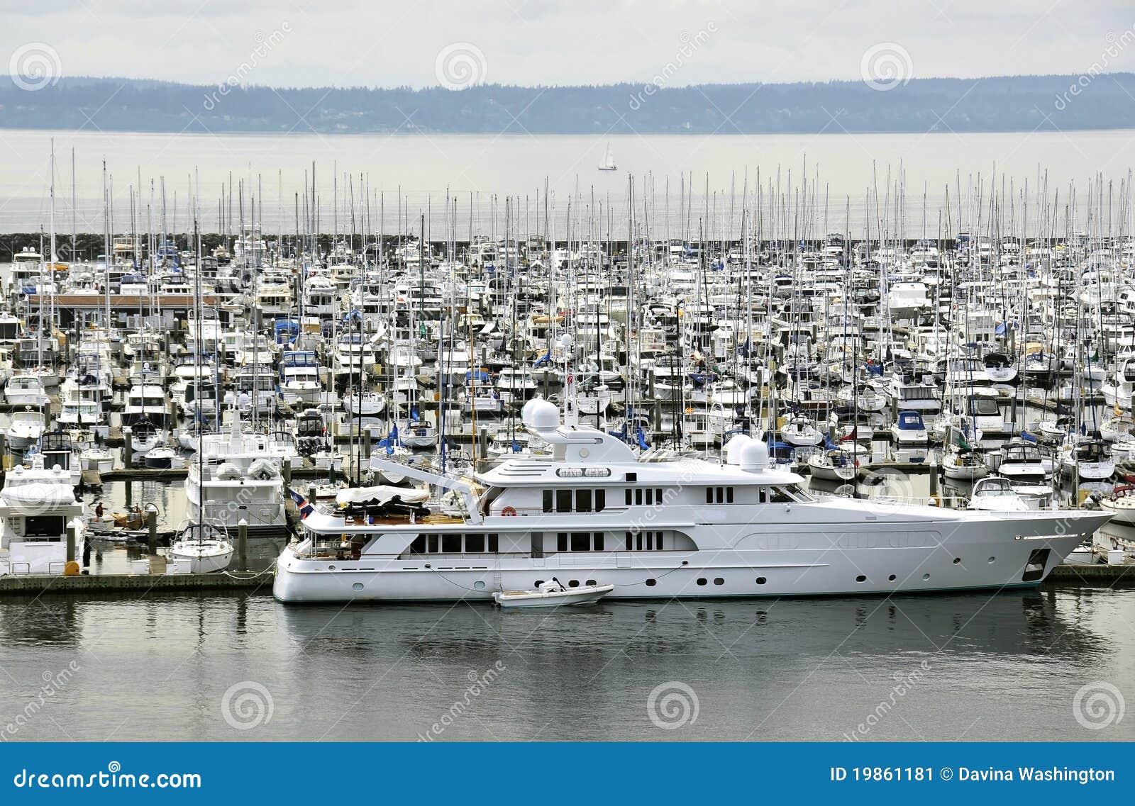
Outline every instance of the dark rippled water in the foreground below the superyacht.
<path fill-rule="evenodd" d="M 1135 592 L 1085 588 L 555 613 L 5 599 L 0 723 L 74 662 L 11 738 L 1132 740 L 1129 714 L 1088 730 L 1074 701 L 1135 702 L 1133 613 Z M 650 719 L 659 686 L 678 729 Z"/>

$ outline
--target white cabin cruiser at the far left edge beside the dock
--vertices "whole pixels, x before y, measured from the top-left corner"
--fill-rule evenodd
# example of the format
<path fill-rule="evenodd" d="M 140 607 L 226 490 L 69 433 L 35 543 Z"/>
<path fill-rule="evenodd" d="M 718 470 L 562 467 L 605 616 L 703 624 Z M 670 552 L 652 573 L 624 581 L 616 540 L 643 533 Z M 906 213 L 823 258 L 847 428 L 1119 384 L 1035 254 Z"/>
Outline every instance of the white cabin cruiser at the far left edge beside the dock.
<path fill-rule="evenodd" d="M 70 473 L 45 467 L 42 453 L 28 467 L 9 470 L 0 490 L 0 576 L 64 574 L 68 533 L 72 557 L 83 557 L 83 503 L 75 499 Z"/>

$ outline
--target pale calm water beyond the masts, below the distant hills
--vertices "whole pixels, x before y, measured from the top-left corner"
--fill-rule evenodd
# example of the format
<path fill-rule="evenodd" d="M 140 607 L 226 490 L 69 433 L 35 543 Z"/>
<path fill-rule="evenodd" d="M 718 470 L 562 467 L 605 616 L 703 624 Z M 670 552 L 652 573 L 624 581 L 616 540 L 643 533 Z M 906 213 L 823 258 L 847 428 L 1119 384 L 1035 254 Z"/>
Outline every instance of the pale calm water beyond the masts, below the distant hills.
<path fill-rule="evenodd" d="M 320 196 L 322 231 L 334 228 L 333 177 L 338 176 L 340 231 L 347 231 L 350 198 L 344 175 L 354 183 L 359 198 L 359 178 L 369 176 L 369 187 L 376 194 L 385 193 L 384 231 L 397 231 L 398 190 L 407 201 L 409 218 L 417 230 L 420 213 L 432 214 L 431 235 L 435 240 L 445 238 L 444 200 L 456 195 L 457 237 L 465 238 L 470 213 L 474 232 L 489 234 L 491 228 L 490 196 L 506 194 L 528 196 L 526 210 L 513 215 L 513 226 L 520 221 L 520 231 L 536 231 L 541 211 L 536 209 L 538 188 L 547 180 L 558 200 L 561 219 L 565 214 L 568 195 L 577 188 L 585 196 L 583 203 L 604 205 L 604 218 L 609 210 L 616 236 L 625 234 L 627 176 L 633 173 L 641 180 L 654 178 L 656 209 L 651 213 L 653 237 L 680 237 L 681 220 L 690 222 L 690 237 L 697 237 L 698 219 L 706 219 L 707 236 L 720 236 L 729 215 L 729 194 L 735 180 L 740 196 L 746 170 L 750 189 L 760 170 L 763 184 L 775 180 L 780 173 L 781 187 L 787 189 L 789 172 L 793 185 L 807 170 L 809 179 L 819 173 L 819 194 L 830 198 L 830 215 L 825 219 L 824 204 L 816 205 L 814 228 L 824 232 L 842 230 L 844 197 L 851 197 L 851 230 L 860 232 L 866 213 L 864 194 L 868 187 L 885 188 L 888 176 L 905 171 L 907 188 L 906 234 L 924 234 L 923 193 L 931 203 L 925 222 L 928 237 L 939 235 L 938 207 L 950 186 L 951 204 L 958 194 L 955 183 L 960 171 L 962 215 L 965 226 L 975 219 L 969 209 L 970 177 L 981 173 L 985 194 L 983 212 L 987 209 L 989 180 L 995 167 L 998 190 L 1002 173 L 1014 178 L 1012 189 L 1019 192 L 1028 181 L 1029 195 L 1039 177 L 1046 172 L 1050 194 L 1058 188 L 1061 202 L 1067 200 L 1068 183 L 1076 181 L 1077 193 L 1086 192 L 1086 180 L 1096 172 L 1117 183 L 1126 178 L 1132 164 L 1132 145 L 1135 134 L 1123 131 L 1071 133 L 1009 133 L 1009 134 L 953 134 L 949 131 L 926 135 L 728 135 L 713 137 L 682 135 L 621 135 L 599 136 L 540 136 L 524 134 L 488 135 L 173 135 L 100 131 L 25 131 L 0 129 L 0 232 L 35 231 L 48 226 L 49 154 L 50 139 L 54 138 L 57 159 L 57 227 L 69 232 L 72 226 L 72 168 L 70 151 L 76 153 L 75 218 L 79 231 L 102 231 L 102 160 L 111 175 L 115 198 L 116 231 L 129 229 L 129 187 L 144 188 L 138 205 L 144 228 L 145 206 L 150 203 L 150 181 L 154 180 L 153 226 L 160 231 L 161 179 L 166 186 L 167 229 L 184 232 L 192 229 L 187 214 L 191 177 L 200 179 L 202 226 L 216 229 L 220 187 L 232 176 L 233 181 L 245 180 L 249 193 L 262 196 L 262 215 L 266 229 L 275 234 L 283 226 L 292 232 L 295 226 L 295 193 L 302 193 L 304 171 L 316 163 L 316 178 Z M 611 143 L 617 171 L 599 171 L 607 143 Z M 258 179 L 259 175 L 259 179 Z M 692 175 L 695 195 L 681 210 L 679 186 L 682 176 Z M 706 202 L 708 176 L 709 201 Z M 669 211 L 664 203 L 666 180 L 670 181 Z M 1118 186 L 1118 185 L 1117 185 Z M 280 190 L 283 188 L 283 193 Z M 1010 190 L 1007 179 L 1006 193 Z M 713 194 L 716 192 L 716 204 Z M 474 194 L 472 205 L 470 194 Z M 649 194 L 648 194 L 649 195 Z M 283 202 L 283 203 L 281 203 Z M 1032 200 L 1029 200 L 1032 204 Z M 247 204 L 247 203 L 246 203 Z M 361 203 L 355 215 L 361 214 Z M 372 227 L 378 226 L 377 202 L 371 207 Z M 1009 214 L 1008 203 L 1003 211 Z M 472 207 L 472 209 L 471 209 Z M 641 198 L 637 209 L 641 207 Z M 708 207 L 708 211 L 707 211 Z M 247 207 L 246 207 L 247 210 Z M 1032 206 L 1029 207 L 1032 210 Z M 577 205 L 579 211 L 579 205 Z M 740 205 L 734 207 L 739 220 Z M 669 226 L 667 226 L 669 212 Z M 874 215 L 872 210 L 872 215 Z M 884 211 L 880 211 L 883 213 Z M 892 211 L 893 212 L 893 211 Z M 1020 211 L 1016 211 L 1019 220 Z M 234 213 L 235 215 L 235 213 Z M 526 218 L 527 217 L 527 218 Z M 889 217 L 893 218 L 893 217 Z M 527 221 L 527 223 L 526 223 Z M 587 232 L 588 213 L 580 222 Z M 1035 226 L 1035 224 L 1034 224 Z M 1079 226 L 1085 226 L 1079 221 Z M 565 220 L 558 220 L 556 231 L 564 236 Z M 504 235 L 503 202 L 497 203 L 496 227 Z M 943 223 L 944 228 L 944 223 Z M 543 229 L 543 227 L 540 227 Z M 953 231 L 957 230 L 955 226 Z M 578 235 L 580 230 L 577 230 Z"/>

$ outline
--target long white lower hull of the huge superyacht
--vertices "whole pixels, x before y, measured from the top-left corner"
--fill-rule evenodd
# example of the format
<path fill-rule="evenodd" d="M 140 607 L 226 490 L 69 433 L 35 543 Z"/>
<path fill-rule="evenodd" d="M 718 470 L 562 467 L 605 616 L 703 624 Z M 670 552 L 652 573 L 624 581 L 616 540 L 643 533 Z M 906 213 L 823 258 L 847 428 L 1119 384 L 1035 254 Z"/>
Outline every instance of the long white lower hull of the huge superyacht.
<path fill-rule="evenodd" d="M 890 595 L 1020 587 L 1040 584 L 1109 517 L 1076 511 L 981 512 L 951 514 L 941 521 L 891 517 L 885 526 L 876 521 L 801 523 L 812 506 L 825 504 L 796 506 L 800 517 L 777 525 L 692 527 L 688 533 L 695 541 L 705 537 L 708 543 L 712 531 L 722 544 L 700 551 L 561 552 L 544 558 L 362 554 L 353 560 L 306 555 L 310 543 L 305 541 L 284 550 L 272 591 L 284 602 L 491 601 L 495 592 L 538 587 L 553 576 L 564 584 L 612 583 L 615 588 L 609 599 Z M 928 508 L 896 509 L 924 514 Z M 886 520 L 886 516 L 875 517 Z M 504 540 L 510 526 L 481 528 L 497 531 Z M 726 529 L 734 534 L 723 534 Z"/>

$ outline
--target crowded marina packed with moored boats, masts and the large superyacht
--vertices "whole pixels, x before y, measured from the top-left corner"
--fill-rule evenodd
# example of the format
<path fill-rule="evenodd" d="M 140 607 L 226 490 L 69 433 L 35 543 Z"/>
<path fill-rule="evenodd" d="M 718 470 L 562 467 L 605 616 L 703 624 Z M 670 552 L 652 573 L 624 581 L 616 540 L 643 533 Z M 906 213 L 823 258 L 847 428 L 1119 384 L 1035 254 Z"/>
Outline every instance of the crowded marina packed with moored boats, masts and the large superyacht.
<path fill-rule="evenodd" d="M 77 158 L 68 194 L 47 156 L 49 226 L 0 277 L 0 591 L 885 595 L 1135 562 L 1129 176 L 958 170 L 932 202 L 886 169 L 852 220 L 807 162 L 628 173 L 616 220 L 578 181 L 439 217 L 312 163 L 285 227 L 260 176 L 140 175 L 116 207 L 104 170 L 82 234 Z"/>

